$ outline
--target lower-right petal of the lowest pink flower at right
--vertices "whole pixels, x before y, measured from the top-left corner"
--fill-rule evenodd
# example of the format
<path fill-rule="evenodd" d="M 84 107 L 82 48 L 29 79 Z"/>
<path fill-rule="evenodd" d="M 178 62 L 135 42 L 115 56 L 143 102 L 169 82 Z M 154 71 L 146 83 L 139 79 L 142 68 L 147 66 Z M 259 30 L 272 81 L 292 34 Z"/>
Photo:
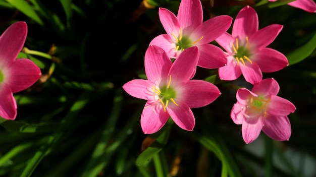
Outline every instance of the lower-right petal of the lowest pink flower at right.
<path fill-rule="evenodd" d="M 286 141 L 291 136 L 291 124 L 287 116 L 267 115 L 262 131 L 277 141 Z"/>

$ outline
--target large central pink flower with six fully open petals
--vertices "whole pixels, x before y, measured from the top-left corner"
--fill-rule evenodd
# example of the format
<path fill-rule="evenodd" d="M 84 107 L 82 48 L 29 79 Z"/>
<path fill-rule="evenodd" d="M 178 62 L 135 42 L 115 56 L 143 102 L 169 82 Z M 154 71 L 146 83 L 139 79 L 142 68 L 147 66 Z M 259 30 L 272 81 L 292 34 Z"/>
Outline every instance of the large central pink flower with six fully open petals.
<path fill-rule="evenodd" d="M 148 80 L 135 79 L 124 84 L 130 95 L 147 100 L 140 124 L 145 134 L 159 131 L 169 116 L 181 128 L 192 131 L 195 125 L 190 108 L 213 102 L 221 92 L 212 83 L 190 80 L 198 62 L 198 48 L 187 48 L 174 63 L 158 46 L 150 45 L 145 53 Z"/>

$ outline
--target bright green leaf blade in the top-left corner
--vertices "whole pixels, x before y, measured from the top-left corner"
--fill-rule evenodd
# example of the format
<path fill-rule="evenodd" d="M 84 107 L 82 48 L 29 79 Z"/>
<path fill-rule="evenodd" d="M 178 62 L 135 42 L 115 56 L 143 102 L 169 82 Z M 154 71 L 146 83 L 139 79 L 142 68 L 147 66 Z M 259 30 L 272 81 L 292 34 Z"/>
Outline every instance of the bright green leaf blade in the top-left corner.
<path fill-rule="evenodd" d="M 38 24 L 43 25 L 42 20 L 36 14 L 32 6 L 30 6 L 27 3 L 27 1 L 24 1 L 24 0 L 6 0 L 6 1 L 10 3 L 12 6 L 14 6 L 15 8 L 17 8 L 19 11 L 21 11 L 23 14 L 33 19 Z"/>

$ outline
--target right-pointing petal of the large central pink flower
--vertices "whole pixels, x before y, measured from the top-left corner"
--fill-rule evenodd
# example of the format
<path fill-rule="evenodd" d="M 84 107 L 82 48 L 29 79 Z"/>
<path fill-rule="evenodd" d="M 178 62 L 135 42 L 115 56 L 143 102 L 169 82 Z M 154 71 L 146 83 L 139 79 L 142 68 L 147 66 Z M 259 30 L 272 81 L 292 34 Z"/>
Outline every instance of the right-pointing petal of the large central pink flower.
<path fill-rule="evenodd" d="M 206 106 L 221 95 L 214 84 L 202 80 L 189 80 L 181 89 L 181 100 L 191 108 Z"/>

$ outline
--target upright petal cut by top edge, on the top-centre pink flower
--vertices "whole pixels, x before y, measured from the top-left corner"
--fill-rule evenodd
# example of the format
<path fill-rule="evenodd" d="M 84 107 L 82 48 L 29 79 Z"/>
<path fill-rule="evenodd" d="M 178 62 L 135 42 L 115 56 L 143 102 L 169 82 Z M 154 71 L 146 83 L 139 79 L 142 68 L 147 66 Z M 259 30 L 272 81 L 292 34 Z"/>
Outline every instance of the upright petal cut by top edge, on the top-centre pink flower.
<path fill-rule="evenodd" d="M 200 0 L 182 0 L 178 11 L 178 20 L 183 31 L 192 32 L 203 22 L 203 11 Z"/>

